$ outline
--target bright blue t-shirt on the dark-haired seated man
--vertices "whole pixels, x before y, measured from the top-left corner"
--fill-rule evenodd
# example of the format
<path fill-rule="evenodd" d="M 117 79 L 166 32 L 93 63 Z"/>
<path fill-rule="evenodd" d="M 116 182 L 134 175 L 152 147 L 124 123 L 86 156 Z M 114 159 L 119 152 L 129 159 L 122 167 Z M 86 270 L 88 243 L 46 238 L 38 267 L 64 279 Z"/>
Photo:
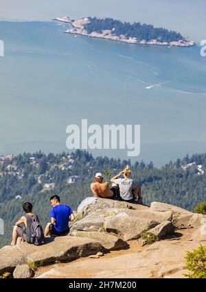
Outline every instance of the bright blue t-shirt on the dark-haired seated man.
<path fill-rule="evenodd" d="M 52 208 L 50 217 L 56 220 L 54 230 L 63 232 L 69 229 L 69 216 L 73 214 L 71 208 L 66 205 L 59 204 Z"/>

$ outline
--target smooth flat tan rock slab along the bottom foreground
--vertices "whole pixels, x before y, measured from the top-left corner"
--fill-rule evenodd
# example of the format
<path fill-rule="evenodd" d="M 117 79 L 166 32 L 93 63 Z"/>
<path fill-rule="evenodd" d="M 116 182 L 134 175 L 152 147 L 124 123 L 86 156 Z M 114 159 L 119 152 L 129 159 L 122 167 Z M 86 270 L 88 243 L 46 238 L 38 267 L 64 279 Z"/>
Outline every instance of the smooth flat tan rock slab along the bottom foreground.
<path fill-rule="evenodd" d="M 38 278 L 184 278 L 185 251 L 194 250 L 198 243 L 158 241 L 143 252 L 117 257 L 93 258 L 65 267 L 54 267 Z"/>

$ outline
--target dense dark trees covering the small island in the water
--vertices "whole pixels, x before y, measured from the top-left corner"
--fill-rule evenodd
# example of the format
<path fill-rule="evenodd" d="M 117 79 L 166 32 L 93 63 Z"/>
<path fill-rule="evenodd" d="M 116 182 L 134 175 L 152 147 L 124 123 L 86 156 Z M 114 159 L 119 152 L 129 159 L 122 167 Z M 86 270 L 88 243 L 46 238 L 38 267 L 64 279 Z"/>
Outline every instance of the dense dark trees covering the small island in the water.
<path fill-rule="evenodd" d="M 121 34 L 127 38 L 137 38 L 137 40 L 159 40 L 159 42 L 172 42 L 183 40 L 181 34 L 165 29 L 163 27 L 154 27 L 153 25 L 147 25 L 146 23 L 128 23 L 117 21 L 111 18 L 100 19 L 97 17 L 89 17 L 89 23 L 84 25 L 84 29 L 89 34 L 91 32 L 102 33 L 102 30 L 109 29 L 115 36 Z"/>

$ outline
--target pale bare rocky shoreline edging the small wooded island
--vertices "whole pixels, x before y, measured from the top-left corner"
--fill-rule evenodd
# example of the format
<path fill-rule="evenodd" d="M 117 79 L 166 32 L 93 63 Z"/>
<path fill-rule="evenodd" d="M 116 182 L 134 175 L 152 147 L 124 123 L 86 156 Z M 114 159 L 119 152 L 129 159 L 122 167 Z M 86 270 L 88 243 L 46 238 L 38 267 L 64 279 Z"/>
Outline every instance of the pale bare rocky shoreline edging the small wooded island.
<path fill-rule="evenodd" d="M 136 45 L 142 45 L 145 47 L 148 47 L 149 45 L 159 45 L 161 47 L 192 47 L 195 44 L 192 40 L 178 40 L 178 41 L 172 41 L 172 42 L 159 42 L 158 40 L 137 40 L 137 38 L 127 38 L 123 34 L 121 36 L 115 36 L 113 32 L 110 29 L 105 29 L 102 31 L 102 33 L 98 32 L 91 32 L 89 34 L 86 29 L 84 29 L 84 25 L 87 25 L 89 23 L 88 18 L 78 19 L 74 21 L 73 19 L 69 18 L 69 16 L 63 16 L 58 17 L 54 19 L 55 21 L 60 21 L 63 23 L 69 23 L 72 27 L 71 29 L 65 30 L 65 33 L 67 34 L 74 34 L 75 36 L 77 34 L 80 34 L 82 36 L 90 36 L 92 38 L 104 38 L 107 40 L 115 40 L 118 42 L 126 42 L 129 44 L 136 44 Z"/>

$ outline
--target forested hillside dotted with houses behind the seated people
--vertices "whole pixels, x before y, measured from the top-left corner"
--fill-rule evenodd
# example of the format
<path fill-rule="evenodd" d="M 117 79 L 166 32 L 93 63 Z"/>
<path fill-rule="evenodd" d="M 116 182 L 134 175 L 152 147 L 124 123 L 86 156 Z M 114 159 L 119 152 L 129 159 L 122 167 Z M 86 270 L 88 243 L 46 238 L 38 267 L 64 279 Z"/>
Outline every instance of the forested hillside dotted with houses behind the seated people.
<path fill-rule="evenodd" d="M 90 183 L 97 171 L 117 174 L 130 165 L 134 180 L 142 186 L 144 203 L 167 202 L 193 210 L 206 200 L 206 154 L 185 156 L 156 168 L 143 161 L 131 165 L 130 160 L 107 157 L 93 158 L 86 151 L 71 154 L 36 154 L 0 156 L 0 217 L 5 221 L 5 235 L 0 246 L 10 243 L 12 226 L 22 215 L 22 204 L 30 201 L 43 225 L 49 220 L 49 197 L 57 193 L 63 204 L 74 210 L 84 197 L 92 195 Z"/>

